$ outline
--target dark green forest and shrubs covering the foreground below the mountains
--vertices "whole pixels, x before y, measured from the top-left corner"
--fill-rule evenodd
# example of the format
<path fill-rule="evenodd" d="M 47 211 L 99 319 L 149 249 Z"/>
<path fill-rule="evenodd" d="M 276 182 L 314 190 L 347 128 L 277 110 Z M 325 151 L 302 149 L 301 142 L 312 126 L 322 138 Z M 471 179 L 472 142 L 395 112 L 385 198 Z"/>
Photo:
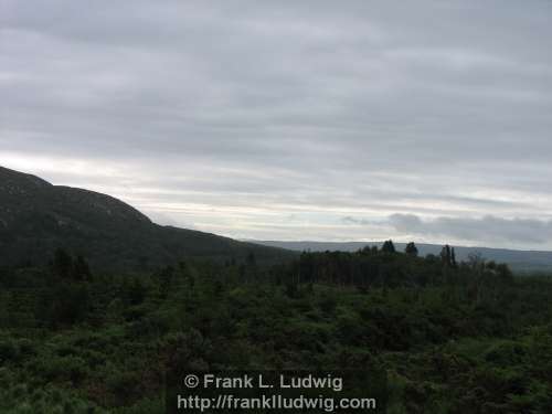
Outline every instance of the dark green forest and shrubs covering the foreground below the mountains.
<path fill-rule="evenodd" d="M 381 367 L 388 413 L 549 413 L 552 279 L 392 241 L 279 264 L 0 268 L 0 412 L 163 413 L 168 364 Z"/>

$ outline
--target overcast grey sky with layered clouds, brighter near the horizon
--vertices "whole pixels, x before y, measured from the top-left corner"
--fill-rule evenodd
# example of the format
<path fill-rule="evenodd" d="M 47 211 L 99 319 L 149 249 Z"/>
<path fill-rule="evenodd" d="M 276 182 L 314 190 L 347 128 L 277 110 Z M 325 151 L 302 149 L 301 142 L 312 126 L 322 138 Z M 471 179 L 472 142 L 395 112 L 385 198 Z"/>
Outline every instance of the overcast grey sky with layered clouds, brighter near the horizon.
<path fill-rule="evenodd" d="M 0 0 L 0 166 L 235 238 L 552 250 L 552 1 Z"/>

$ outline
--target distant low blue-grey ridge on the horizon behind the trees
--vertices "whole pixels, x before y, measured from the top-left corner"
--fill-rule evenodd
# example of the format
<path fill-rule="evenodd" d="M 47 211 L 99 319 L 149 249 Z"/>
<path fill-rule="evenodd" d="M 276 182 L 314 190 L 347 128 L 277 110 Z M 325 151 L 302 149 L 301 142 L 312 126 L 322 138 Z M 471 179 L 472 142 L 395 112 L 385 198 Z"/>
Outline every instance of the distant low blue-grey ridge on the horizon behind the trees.
<path fill-rule="evenodd" d="M 293 251 L 343 251 L 354 252 L 365 245 L 382 245 L 382 242 L 278 242 L 278 241 L 254 241 L 254 243 L 265 246 L 288 248 Z M 439 254 L 443 245 L 437 244 L 417 244 L 420 255 Z M 404 243 L 395 243 L 395 247 L 404 251 Z M 552 252 L 543 251 L 517 251 L 508 248 L 490 247 L 466 247 L 455 246 L 456 257 L 459 261 L 466 261 L 471 254 L 480 254 L 488 261 L 507 263 L 516 272 L 543 272 L 552 273 Z"/>

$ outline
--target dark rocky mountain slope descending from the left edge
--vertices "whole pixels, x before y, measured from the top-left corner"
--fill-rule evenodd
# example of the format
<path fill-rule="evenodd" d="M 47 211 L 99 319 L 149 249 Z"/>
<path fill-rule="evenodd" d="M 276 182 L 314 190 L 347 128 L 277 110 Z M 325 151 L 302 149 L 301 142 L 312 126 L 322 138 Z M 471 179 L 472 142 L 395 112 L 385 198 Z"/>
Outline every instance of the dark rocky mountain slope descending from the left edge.
<path fill-rule="evenodd" d="M 152 223 L 132 206 L 94 191 L 53 185 L 0 167 L 0 266 L 41 264 L 57 247 L 100 269 L 138 269 L 185 257 L 276 261 L 294 254 Z"/>

